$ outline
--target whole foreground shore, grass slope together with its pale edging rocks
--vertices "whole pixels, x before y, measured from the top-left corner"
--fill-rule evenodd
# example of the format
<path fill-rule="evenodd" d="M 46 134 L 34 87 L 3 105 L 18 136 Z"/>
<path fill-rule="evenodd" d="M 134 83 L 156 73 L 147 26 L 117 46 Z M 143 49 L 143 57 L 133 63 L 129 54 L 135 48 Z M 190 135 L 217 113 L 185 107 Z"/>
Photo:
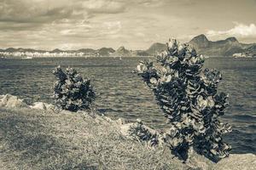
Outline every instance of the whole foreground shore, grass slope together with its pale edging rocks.
<path fill-rule="evenodd" d="M 55 113 L 53 105 L 43 102 L 27 105 L 10 94 L 0 95 L 0 126 L 0 169 L 253 170 L 256 167 L 253 154 L 231 154 L 214 163 L 194 153 L 183 163 L 161 141 L 162 133 L 140 121 L 112 120 L 84 111 Z M 138 126 L 157 136 L 158 144 L 152 146 L 132 135 L 132 128 Z"/>

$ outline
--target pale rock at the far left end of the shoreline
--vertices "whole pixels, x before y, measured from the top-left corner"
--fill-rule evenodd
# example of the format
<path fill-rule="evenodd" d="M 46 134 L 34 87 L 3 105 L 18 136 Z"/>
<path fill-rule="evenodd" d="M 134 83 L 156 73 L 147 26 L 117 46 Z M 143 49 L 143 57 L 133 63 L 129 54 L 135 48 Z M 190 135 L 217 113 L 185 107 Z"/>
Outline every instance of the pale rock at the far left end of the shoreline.
<path fill-rule="evenodd" d="M 11 94 L 3 95 L 3 98 L 0 100 L 0 106 L 4 107 L 26 107 L 26 103 L 23 99 L 18 99 L 17 96 Z"/>

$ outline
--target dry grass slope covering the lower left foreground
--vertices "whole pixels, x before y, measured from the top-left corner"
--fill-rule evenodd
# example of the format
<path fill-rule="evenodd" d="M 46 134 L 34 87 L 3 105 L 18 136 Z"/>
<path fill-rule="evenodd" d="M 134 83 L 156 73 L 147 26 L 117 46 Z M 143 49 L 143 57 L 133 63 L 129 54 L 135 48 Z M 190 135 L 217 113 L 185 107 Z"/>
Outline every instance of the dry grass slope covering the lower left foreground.
<path fill-rule="evenodd" d="M 187 169 L 89 115 L 0 108 L 0 169 Z"/>

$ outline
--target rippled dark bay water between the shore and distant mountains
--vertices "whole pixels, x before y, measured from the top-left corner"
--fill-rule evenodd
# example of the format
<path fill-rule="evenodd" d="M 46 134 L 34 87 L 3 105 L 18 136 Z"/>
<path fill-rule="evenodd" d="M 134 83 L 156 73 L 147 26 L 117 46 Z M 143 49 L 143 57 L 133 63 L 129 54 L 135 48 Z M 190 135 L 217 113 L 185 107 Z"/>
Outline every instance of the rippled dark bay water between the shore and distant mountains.
<path fill-rule="evenodd" d="M 92 80 L 96 108 L 108 116 L 141 118 L 151 127 L 164 128 L 166 119 L 153 93 L 132 74 L 139 58 L 110 59 L 0 59 L 0 94 L 14 94 L 32 101 L 51 102 L 55 65 L 76 68 Z M 233 153 L 256 154 L 256 59 L 207 59 L 206 67 L 223 73 L 219 91 L 230 94 L 230 107 L 223 116 L 233 132 L 226 140 Z"/>

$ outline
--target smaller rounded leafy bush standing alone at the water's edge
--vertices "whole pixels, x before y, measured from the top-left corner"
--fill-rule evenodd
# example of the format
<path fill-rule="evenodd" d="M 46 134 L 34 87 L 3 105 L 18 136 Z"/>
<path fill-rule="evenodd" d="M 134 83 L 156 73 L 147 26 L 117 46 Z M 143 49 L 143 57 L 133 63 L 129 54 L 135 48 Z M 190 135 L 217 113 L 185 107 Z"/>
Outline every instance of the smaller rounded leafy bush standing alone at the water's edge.
<path fill-rule="evenodd" d="M 54 88 L 55 107 L 68 111 L 90 110 L 90 104 L 96 98 L 90 79 L 84 80 L 70 67 L 64 72 L 60 65 L 53 74 L 57 78 Z"/>

